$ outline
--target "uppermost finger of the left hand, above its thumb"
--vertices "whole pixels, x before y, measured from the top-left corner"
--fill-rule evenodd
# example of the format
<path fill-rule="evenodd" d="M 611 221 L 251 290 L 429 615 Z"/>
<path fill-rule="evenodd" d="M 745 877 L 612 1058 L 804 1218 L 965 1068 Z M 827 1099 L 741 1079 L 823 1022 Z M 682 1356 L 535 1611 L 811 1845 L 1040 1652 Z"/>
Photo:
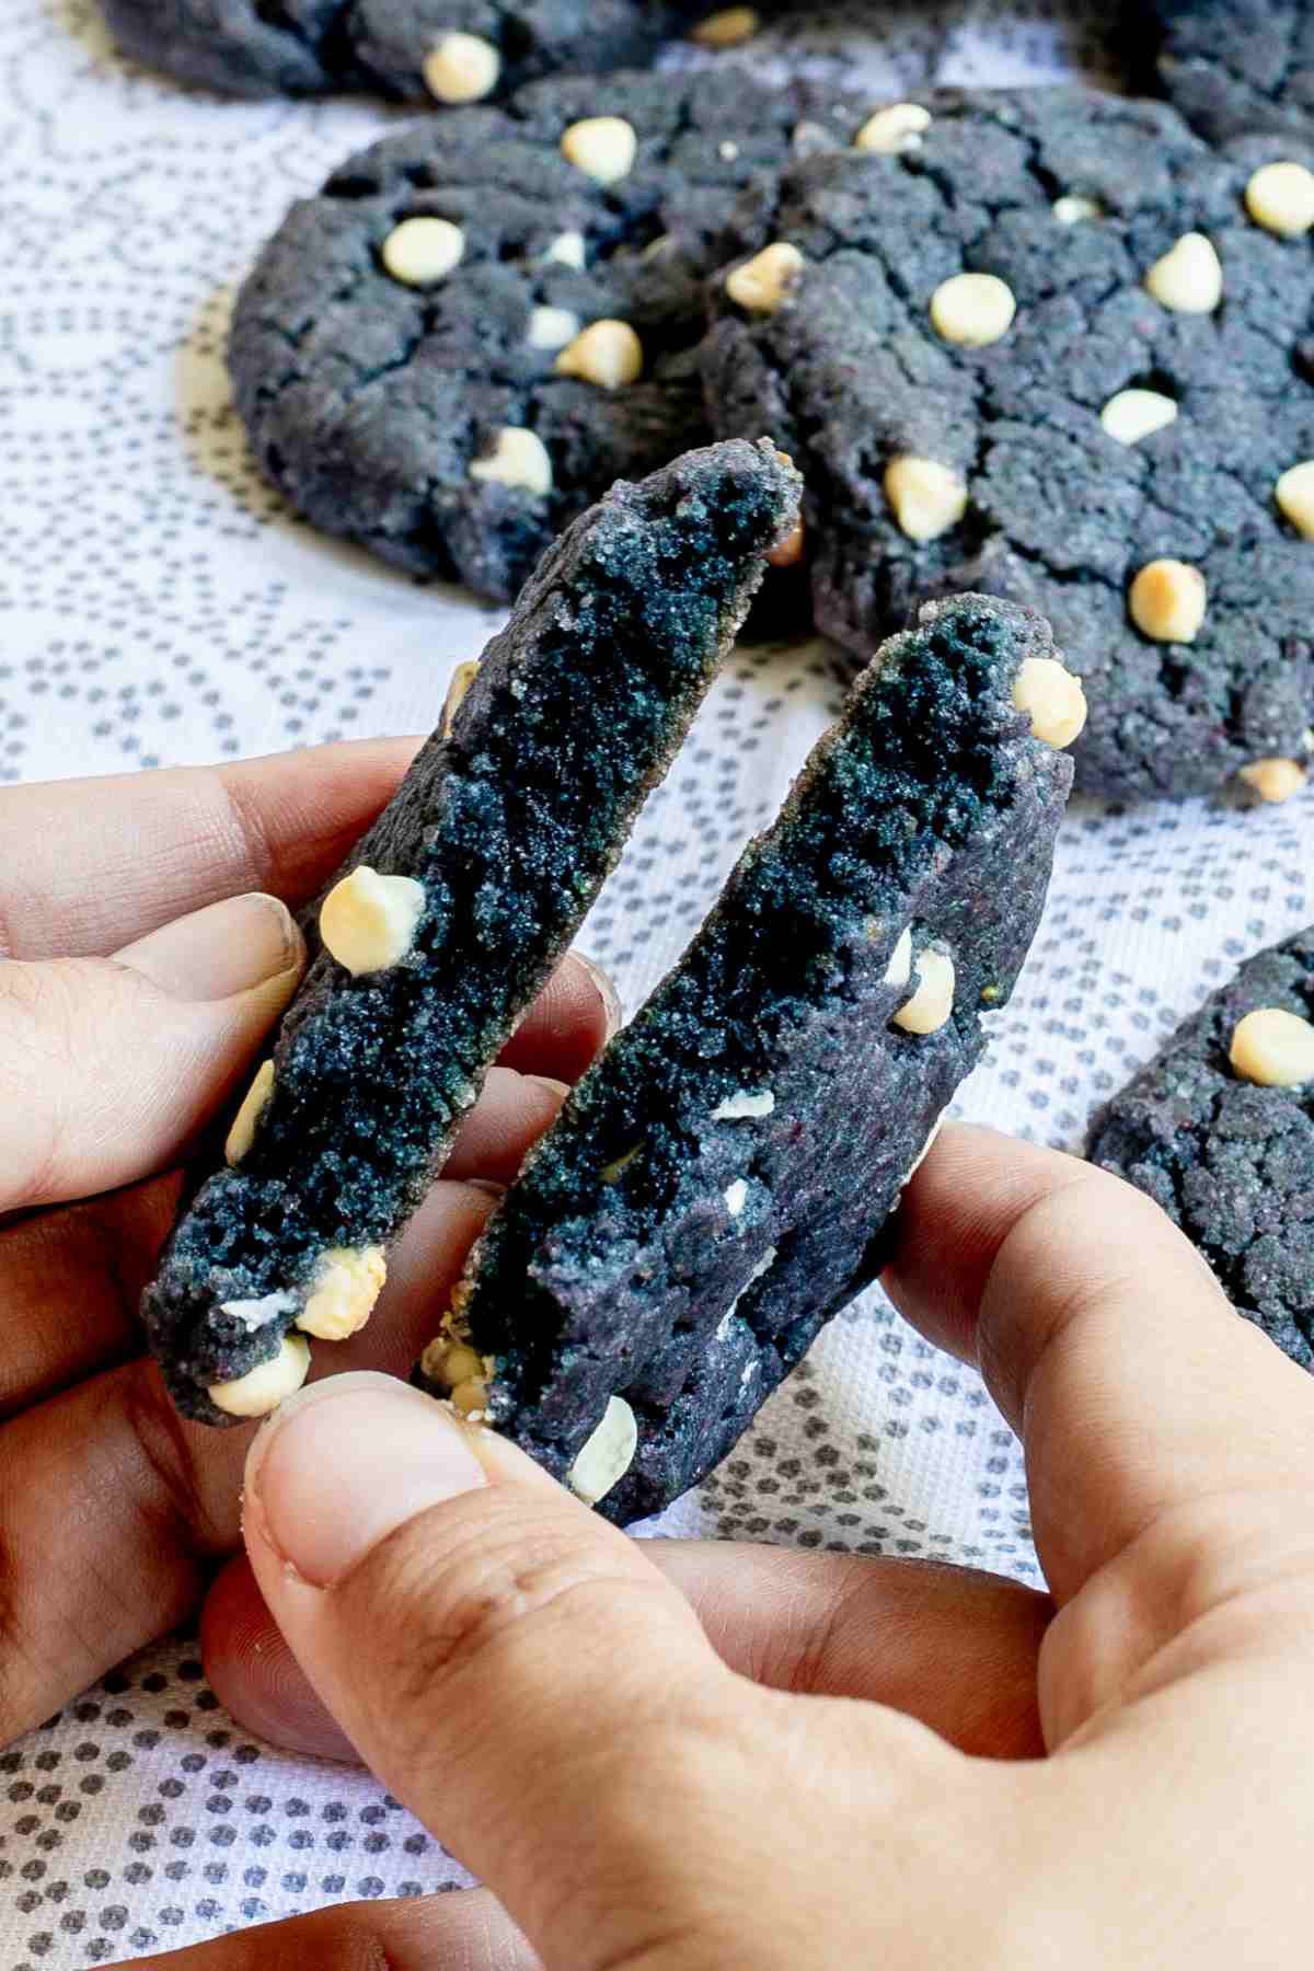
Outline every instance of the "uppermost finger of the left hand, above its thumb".
<path fill-rule="evenodd" d="M 414 739 L 0 792 L 0 956 L 106 956 L 242 891 L 294 909 L 392 798 Z"/>

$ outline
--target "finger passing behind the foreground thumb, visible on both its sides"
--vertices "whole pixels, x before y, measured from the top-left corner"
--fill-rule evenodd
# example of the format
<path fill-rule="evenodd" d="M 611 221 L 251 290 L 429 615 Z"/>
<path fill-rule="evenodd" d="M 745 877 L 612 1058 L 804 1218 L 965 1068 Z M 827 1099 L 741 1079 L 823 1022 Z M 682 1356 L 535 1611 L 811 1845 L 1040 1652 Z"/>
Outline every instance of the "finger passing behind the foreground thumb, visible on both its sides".
<path fill-rule="evenodd" d="M 861 1697 L 920 1719 L 963 1752 L 1042 1750 L 1036 1660 L 1048 1597 L 934 1563 L 729 1541 L 644 1547 L 731 1669 L 755 1683 Z M 272 1744 L 357 1758 L 278 1630 L 244 1555 L 205 1598 L 201 1656 L 227 1711 Z"/>

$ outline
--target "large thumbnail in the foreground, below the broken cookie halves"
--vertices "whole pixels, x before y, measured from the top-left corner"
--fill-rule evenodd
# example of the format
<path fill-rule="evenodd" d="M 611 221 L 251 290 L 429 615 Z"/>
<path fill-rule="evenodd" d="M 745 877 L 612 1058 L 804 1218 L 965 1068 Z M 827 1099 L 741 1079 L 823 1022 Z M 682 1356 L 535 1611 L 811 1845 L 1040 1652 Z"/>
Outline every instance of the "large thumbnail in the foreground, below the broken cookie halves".
<path fill-rule="evenodd" d="M 246 1457 L 246 1518 L 311 1587 L 329 1587 L 418 1512 L 487 1482 L 473 1427 L 372 1370 L 297 1392 Z"/>

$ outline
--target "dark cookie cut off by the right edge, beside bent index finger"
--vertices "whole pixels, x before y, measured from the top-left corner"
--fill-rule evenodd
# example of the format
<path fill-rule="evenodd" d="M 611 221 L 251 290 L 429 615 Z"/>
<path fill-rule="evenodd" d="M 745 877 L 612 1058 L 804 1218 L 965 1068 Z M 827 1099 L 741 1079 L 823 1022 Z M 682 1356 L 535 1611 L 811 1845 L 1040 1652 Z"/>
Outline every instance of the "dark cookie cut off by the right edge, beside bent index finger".
<path fill-rule="evenodd" d="M 1095 1118 L 1227 1299 L 1314 1368 L 1314 928 L 1249 958 Z"/>

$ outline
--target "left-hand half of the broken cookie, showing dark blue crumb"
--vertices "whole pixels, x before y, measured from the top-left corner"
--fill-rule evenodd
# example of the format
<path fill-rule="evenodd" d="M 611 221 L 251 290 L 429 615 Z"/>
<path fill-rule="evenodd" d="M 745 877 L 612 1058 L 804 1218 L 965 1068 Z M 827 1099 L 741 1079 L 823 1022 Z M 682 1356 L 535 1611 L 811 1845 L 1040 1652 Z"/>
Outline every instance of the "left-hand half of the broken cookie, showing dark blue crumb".
<path fill-rule="evenodd" d="M 378 1254 L 565 950 L 733 641 L 798 475 L 760 445 L 619 485 L 556 544 L 349 867 L 422 885 L 410 952 L 317 956 L 234 1169 L 199 1189 L 144 1319 L 179 1407 L 270 1360 L 325 1254 Z M 230 1309 L 236 1309 L 232 1313 Z"/>

